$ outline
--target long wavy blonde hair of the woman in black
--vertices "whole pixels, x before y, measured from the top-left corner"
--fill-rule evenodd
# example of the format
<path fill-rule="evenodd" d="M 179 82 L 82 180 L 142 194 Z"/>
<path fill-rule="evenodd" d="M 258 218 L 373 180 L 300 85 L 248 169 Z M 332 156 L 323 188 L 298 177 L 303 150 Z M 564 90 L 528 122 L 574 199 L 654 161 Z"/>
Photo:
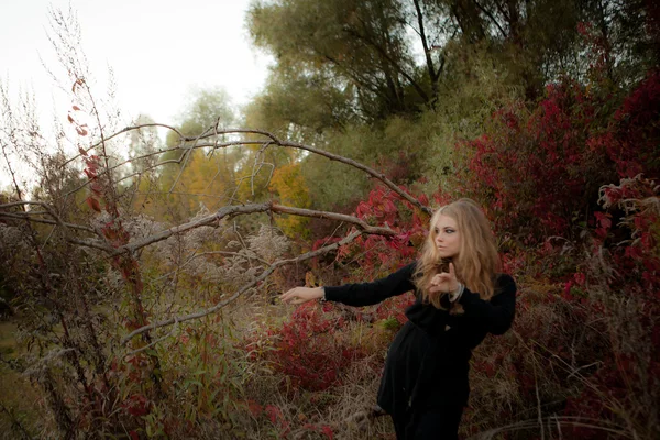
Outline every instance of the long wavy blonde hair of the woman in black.
<path fill-rule="evenodd" d="M 429 293 L 433 275 L 449 272 L 450 260 L 441 258 L 436 246 L 435 227 L 440 216 L 451 217 L 460 233 L 459 254 L 452 261 L 457 278 L 471 292 L 479 293 L 482 299 L 491 299 L 501 265 L 495 237 L 479 205 L 471 199 L 460 199 L 439 208 L 431 217 L 429 234 L 414 275 L 422 300 L 441 308 L 440 295 Z"/>

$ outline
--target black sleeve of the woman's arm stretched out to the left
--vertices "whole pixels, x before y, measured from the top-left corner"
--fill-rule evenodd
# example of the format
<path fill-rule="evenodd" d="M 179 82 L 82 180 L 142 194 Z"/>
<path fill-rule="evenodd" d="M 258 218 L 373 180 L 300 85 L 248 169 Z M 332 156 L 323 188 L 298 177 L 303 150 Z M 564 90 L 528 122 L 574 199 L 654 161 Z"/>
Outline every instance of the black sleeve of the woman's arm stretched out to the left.
<path fill-rule="evenodd" d="M 392 296 L 402 295 L 415 289 L 413 273 L 415 265 L 410 263 L 385 278 L 373 283 L 344 284 L 343 286 L 324 287 L 326 299 L 343 302 L 348 306 L 371 306 Z"/>

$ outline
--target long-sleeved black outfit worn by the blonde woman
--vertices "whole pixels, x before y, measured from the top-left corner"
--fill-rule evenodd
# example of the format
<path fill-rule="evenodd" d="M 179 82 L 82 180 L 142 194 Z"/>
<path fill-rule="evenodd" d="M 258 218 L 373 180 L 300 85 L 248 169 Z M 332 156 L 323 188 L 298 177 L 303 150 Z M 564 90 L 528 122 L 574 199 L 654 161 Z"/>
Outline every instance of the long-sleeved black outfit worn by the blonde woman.
<path fill-rule="evenodd" d="M 326 299 L 369 306 L 416 290 L 413 283 L 416 264 L 408 264 L 373 283 L 324 287 Z M 472 350 L 486 333 L 503 334 L 509 329 L 515 314 L 516 284 L 509 275 L 498 275 L 495 295 L 490 301 L 465 288 L 459 299 L 464 309 L 462 315 L 450 315 L 448 310 L 424 304 L 417 290 L 415 295 L 417 300 L 406 309 L 408 322 L 387 352 L 378 406 L 392 416 L 399 439 L 455 438 L 470 394 L 468 372 Z M 439 430 L 448 433 L 441 437 Z"/>

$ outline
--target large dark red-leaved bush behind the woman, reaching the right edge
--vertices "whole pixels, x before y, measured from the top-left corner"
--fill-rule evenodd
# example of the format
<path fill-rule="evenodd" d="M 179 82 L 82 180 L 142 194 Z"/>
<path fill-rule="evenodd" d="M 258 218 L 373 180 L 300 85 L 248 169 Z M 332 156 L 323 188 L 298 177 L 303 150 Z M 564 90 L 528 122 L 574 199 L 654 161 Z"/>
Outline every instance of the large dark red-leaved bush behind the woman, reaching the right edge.
<path fill-rule="evenodd" d="M 459 145 L 470 156 L 459 191 L 482 201 L 501 233 L 528 244 L 576 239 L 598 209 L 601 186 L 659 176 L 659 107 L 657 72 L 620 106 L 575 81 L 550 85 L 531 112 L 497 111 L 486 134 Z"/>

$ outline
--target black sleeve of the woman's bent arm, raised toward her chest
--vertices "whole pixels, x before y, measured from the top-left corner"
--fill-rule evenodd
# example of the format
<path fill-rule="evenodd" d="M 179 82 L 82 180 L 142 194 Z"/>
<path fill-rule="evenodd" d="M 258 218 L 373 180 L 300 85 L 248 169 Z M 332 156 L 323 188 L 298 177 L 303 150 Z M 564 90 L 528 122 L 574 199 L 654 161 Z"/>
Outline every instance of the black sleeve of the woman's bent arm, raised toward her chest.
<path fill-rule="evenodd" d="M 516 314 L 516 282 L 509 275 L 499 275 L 496 294 L 490 301 L 481 299 L 479 294 L 465 288 L 459 302 L 463 306 L 465 316 L 482 319 L 485 321 L 488 332 L 503 334 L 514 322 Z"/>

